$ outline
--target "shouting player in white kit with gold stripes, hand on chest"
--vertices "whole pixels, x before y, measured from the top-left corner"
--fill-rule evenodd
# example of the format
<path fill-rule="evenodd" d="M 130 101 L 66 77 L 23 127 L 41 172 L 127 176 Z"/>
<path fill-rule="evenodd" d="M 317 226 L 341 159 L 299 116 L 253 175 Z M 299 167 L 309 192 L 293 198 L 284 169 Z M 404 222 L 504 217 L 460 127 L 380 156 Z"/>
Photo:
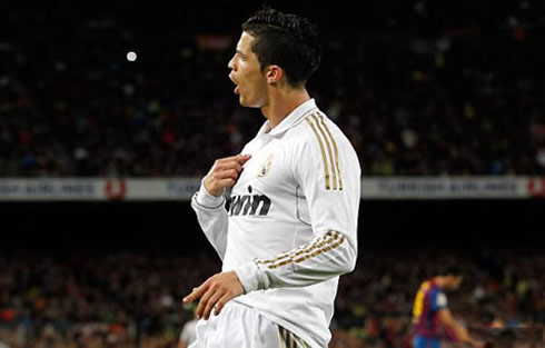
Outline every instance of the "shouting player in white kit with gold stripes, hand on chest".
<path fill-rule="evenodd" d="M 241 155 L 215 162 L 191 201 L 224 262 L 184 299 L 200 298 L 191 348 L 330 340 L 338 277 L 356 264 L 360 168 L 306 90 L 319 60 L 306 19 L 266 9 L 242 24 L 229 77 L 267 120 Z"/>

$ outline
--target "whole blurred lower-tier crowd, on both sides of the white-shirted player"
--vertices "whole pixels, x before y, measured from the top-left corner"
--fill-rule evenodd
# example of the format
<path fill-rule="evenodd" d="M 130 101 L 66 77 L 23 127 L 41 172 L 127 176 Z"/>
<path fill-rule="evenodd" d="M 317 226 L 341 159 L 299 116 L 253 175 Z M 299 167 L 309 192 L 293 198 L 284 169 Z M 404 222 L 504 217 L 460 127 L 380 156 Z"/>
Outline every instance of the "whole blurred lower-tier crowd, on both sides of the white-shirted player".
<path fill-rule="evenodd" d="M 341 277 L 330 347 L 410 347 L 419 284 L 450 264 L 464 282 L 447 294 L 449 308 L 470 331 L 545 324 L 543 255 L 376 250 L 361 252 L 356 270 Z M 0 256 L 0 347 L 176 348 L 191 319 L 180 299 L 219 268 L 205 253 L 7 252 Z"/>

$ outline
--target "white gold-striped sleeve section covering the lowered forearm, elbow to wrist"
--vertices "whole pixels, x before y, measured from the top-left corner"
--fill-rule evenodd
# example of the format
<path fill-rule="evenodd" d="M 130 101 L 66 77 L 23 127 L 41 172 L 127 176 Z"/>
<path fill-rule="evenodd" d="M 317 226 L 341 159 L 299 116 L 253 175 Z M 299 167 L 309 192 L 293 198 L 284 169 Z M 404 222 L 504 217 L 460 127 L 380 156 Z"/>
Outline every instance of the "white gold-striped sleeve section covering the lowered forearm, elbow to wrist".
<path fill-rule="evenodd" d="M 283 287 L 306 287 L 351 271 L 357 251 L 346 235 L 328 231 L 271 259 L 235 269 L 246 292 Z"/>

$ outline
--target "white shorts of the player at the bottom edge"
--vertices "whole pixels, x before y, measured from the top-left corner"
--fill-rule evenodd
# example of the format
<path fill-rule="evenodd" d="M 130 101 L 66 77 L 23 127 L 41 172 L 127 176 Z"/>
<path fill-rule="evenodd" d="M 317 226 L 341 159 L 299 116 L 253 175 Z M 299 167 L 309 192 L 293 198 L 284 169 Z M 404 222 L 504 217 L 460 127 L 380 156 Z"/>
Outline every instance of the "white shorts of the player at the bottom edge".
<path fill-rule="evenodd" d="M 189 348 L 310 348 L 303 339 L 248 306 L 230 301 L 219 316 L 197 324 Z"/>

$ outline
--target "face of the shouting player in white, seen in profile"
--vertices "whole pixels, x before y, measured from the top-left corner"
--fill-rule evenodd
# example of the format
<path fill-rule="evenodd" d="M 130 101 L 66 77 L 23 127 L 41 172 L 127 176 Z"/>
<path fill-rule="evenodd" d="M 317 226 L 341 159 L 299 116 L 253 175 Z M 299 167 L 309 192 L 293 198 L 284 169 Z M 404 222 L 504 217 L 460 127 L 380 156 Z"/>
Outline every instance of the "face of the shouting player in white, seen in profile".
<path fill-rule="evenodd" d="M 267 102 L 267 80 L 261 72 L 259 60 L 251 50 L 254 37 L 242 32 L 237 43 L 237 51 L 229 61 L 229 78 L 237 84 L 235 93 L 239 95 L 244 107 L 261 108 Z"/>

